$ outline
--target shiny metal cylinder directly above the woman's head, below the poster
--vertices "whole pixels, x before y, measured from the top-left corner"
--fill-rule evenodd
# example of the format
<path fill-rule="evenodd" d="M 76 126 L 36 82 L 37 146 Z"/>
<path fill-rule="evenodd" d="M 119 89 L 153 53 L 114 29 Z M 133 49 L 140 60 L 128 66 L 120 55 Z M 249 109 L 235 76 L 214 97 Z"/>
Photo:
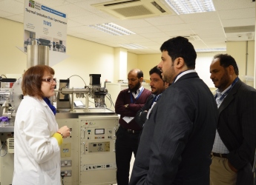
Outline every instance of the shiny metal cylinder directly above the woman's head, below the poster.
<path fill-rule="evenodd" d="M 49 65 L 49 47 L 42 45 L 27 46 L 27 69 L 37 64 Z"/>

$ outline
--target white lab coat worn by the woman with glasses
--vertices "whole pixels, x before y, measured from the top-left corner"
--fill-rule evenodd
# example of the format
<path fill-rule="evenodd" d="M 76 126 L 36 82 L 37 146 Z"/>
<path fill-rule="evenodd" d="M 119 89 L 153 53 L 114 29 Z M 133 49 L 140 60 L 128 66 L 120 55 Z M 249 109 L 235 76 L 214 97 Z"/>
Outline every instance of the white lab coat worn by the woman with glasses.
<path fill-rule="evenodd" d="M 13 185 L 60 185 L 55 115 L 44 100 L 24 96 L 14 125 Z"/>

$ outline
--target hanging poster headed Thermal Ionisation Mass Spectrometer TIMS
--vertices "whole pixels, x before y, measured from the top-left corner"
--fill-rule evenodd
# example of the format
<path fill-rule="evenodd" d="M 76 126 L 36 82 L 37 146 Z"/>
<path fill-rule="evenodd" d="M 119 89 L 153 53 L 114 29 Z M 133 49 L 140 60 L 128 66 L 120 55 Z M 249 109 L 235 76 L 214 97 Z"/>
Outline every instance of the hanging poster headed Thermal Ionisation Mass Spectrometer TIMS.
<path fill-rule="evenodd" d="M 32 42 L 66 53 L 67 15 L 32 0 L 24 1 L 24 52 Z"/>

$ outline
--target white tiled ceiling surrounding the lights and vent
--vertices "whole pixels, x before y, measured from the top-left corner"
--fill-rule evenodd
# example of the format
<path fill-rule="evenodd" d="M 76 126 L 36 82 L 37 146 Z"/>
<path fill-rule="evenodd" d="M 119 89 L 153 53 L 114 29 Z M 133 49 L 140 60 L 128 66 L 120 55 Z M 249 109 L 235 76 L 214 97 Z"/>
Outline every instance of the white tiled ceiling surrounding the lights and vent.
<path fill-rule="evenodd" d="M 130 43 L 145 47 L 145 49 L 128 50 L 131 53 L 160 53 L 163 41 L 174 36 L 190 36 L 189 40 L 196 50 L 225 48 L 226 41 L 255 40 L 255 2 L 252 0 L 213 0 L 215 12 L 177 15 L 172 11 L 172 15 L 168 16 L 126 20 L 117 19 L 91 6 L 91 4 L 107 1 L 110 0 L 36 0 L 68 14 L 69 36 L 111 47 Z M 24 0 L 0 0 L 0 17 L 23 23 L 23 16 Z M 125 27 L 136 34 L 111 36 L 88 27 L 90 24 L 109 22 Z M 224 27 L 246 26 L 253 26 L 253 30 L 229 29 L 231 33 L 225 33 L 226 29 L 224 30 Z M 252 33 L 252 38 L 248 37 L 248 33 Z"/>

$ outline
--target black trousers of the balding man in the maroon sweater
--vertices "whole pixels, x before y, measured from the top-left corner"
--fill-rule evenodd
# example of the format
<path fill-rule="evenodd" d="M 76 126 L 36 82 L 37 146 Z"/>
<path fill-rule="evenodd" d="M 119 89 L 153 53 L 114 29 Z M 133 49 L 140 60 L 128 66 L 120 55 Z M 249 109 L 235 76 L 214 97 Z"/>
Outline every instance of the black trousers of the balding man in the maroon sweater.
<path fill-rule="evenodd" d="M 140 132 L 129 133 L 122 126 L 116 132 L 116 181 L 118 185 L 129 184 L 131 155 L 137 154 Z"/>

